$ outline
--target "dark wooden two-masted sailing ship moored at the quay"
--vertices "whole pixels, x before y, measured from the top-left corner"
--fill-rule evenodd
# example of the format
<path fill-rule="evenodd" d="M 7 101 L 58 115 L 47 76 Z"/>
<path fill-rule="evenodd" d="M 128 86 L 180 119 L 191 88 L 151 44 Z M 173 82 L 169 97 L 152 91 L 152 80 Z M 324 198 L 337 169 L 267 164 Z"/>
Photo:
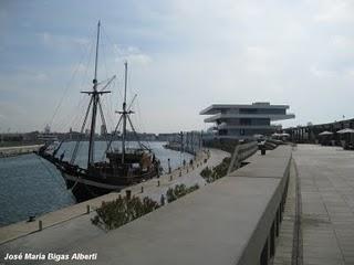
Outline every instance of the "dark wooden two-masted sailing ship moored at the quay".
<path fill-rule="evenodd" d="M 100 26 L 101 22 L 97 24 L 97 39 L 96 39 L 96 53 L 95 53 L 95 68 L 94 68 L 94 80 L 93 88 L 88 92 L 82 92 L 87 94 L 91 99 L 85 113 L 85 117 L 81 127 L 81 135 L 83 135 L 88 115 L 91 114 L 91 129 L 88 139 L 88 155 L 87 155 L 87 167 L 83 168 L 75 163 L 75 158 L 77 155 L 79 146 L 81 139 L 79 139 L 73 149 L 73 153 L 70 161 L 63 160 L 63 156 L 58 157 L 56 153 L 61 148 L 63 141 L 53 150 L 49 151 L 49 145 L 44 145 L 38 155 L 49 162 L 53 163 L 56 169 L 61 172 L 62 177 L 66 182 L 67 189 L 72 190 L 77 202 L 82 202 L 98 195 L 106 194 L 112 191 L 119 191 L 125 187 L 142 182 L 154 177 L 158 177 L 160 166 L 159 161 L 156 159 L 153 151 L 139 141 L 137 132 L 131 120 L 132 103 L 127 107 L 126 104 L 126 89 L 127 89 L 127 63 L 125 62 L 125 82 L 124 82 L 124 102 L 121 112 L 117 112 L 121 116 L 118 123 L 116 124 L 114 132 L 111 135 L 111 139 L 107 140 L 107 147 L 105 150 L 104 161 L 94 161 L 95 153 L 95 128 L 97 113 L 100 113 L 102 118 L 102 125 L 106 128 L 105 119 L 103 116 L 101 96 L 110 93 L 105 91 L 107 84 L 115 78 L 113 76 L 107 84 L 98 89 L 97 82 L 97 61 L 98 61 L 98 44 L 100 44 Z M 112 142 L 117 135 L 121 123 L 123 123 L 122 131 L 122 148 L 121 150 L 114 150 Z M 127 149 L 126 148 L 126 136 L 127 136 L 127 124 L 136 136 L 136 141 L 138 148 Z"/>

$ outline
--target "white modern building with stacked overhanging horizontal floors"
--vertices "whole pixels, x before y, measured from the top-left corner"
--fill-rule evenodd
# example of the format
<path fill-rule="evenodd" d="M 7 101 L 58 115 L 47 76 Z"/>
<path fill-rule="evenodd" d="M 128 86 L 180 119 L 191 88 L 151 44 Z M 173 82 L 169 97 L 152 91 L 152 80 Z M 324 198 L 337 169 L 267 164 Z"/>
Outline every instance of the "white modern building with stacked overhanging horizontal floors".
<path fill-rule="evenodd" d="M 251 105 L 212 104 L 200 112 L 211 115 L 205 123 L 214 123 L 216 138 L 244 139 L 254 135 L 270 136 L 281 129 L 272 121 L 294 118 L 287 114 L 288 105 L 270 105 L 270 103 L 252 103 Z"/>

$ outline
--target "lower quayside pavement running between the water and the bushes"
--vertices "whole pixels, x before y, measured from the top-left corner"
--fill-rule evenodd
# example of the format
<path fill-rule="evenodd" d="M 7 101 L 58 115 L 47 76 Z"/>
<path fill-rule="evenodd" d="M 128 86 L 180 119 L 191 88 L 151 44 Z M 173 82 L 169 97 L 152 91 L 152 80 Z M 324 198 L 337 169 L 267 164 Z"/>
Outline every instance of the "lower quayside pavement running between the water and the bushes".
<path fill-rule="evenodd" d="M 200 177 L 200 171 L 206 166 L 215 167 L 219 165 L 227 156 L 229 156 L 229 153 L 225 151 L 210 149 L 210 158 L 207 163 L 201 165 L 205 156 L 200 157 L 197 159 L 199 166 L 195 166 L 194 168 L 189 167 L 188 170 L 184 169 L 181 177 L 179 177 L 180 171 L 176 170 L 171 174 L 160 177 L 158 180 L 152 179 L 128 189 L 132 190 L 134 195 L 142 198 L 150 197 L 152 199 L 159 201 L 160 195 L 165 194 L 168 188 L 177 183 L 185 183 L 187 187 L 198 183 L 199 187 L 202 188 L 206 182 Z M 159 187 L 157 186 L 157 181 L 160 182 Z M 144 187 L 144 193 L 142 193 L 142 187 Z M 122 193 L 124 194 L 125 191 L 123 190 Z M 38 231 L 38 222 L 22 222 L 1 227 L 0 258 L 2 259 L 6 253 L 17 253 L 18 250 L 21 250 L 22 252 L 48 253 L 55 251 L 58 253 L 65 253 L 74 245 L 90 241 L 100 234 L 107 233 L 91 223 L 91 218 L 95 215 L 94 212 L 91 212 L 90 214 L 84 213 L 86 211 L 86 205 L 90 205 L 91 209 L 97 208 L 101 205 L 102 201 L 112 201 L 116 199 L 118 194 L 119 193 L 110 193 L 91 201 L 45 214 L 40 218 L 40 220 L 43 221 L 44 227 L 41 232 L 35 232 Z M 9 240 L 11 241 L 8 242 Z M 1 244 L 1 241 L 3 244 Z"/>

